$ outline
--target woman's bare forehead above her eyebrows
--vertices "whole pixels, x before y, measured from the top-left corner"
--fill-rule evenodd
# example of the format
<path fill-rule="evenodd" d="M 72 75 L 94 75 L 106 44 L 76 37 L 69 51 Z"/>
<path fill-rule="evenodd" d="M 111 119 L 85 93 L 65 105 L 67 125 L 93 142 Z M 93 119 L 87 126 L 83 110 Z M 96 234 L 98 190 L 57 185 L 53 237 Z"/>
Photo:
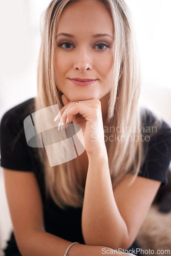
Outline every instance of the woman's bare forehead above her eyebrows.
<path fill-rule="evenodd" d="M 57 26 L 58 33 L 66 31 L 113 34 L 113 19 L 110 11 L 99 0 L 71 2 L 63 9 Z"/>

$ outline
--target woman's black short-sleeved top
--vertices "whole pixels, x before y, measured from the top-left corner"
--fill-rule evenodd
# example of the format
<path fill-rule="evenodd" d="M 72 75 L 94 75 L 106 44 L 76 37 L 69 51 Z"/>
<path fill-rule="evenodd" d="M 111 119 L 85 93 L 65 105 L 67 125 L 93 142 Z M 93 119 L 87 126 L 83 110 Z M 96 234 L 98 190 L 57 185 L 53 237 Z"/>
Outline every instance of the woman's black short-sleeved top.
<path fill-rule="evenodd" d="M 40 188 L 44 206 L 44 222 L 46 231 L 71 242 L 84 244 L 81 231 L 82 208 L 68 207 L 67 210 L 59 208 L 52 199 L 45 197 L 45 181 L 41 164 L 36 157 L 36 149 L 27 145 L 24 132 L 24 119 L 31 114 L 30 106 L 34 99 L 29 99 L 9 110 L 1 121 L 1 166 L 34 172 Z M 34 112 L 34 111 L 33 111 Z M 155 118 L 151 112 L 145 117 L 142 126 L 152 125 Z M 148 136 L 148 131 L 146 131 Z M 146 137 L 146 140 L 148 138 Z M 148 153 L 139 172 L 139 176 L 159 180 L 162 186 L 167 183 L 167 170 L 171 159 L 171 129 L 162 121 L 160 131 L 149 142 Z M 18 252 L 13 233 L 6 255 Z"/>

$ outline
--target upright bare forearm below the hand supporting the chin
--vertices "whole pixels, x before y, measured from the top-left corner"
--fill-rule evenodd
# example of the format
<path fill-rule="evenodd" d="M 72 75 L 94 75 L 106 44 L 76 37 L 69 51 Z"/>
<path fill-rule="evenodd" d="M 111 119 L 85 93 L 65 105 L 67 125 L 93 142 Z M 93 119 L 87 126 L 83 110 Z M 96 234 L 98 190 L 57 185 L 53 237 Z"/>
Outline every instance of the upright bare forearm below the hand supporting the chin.
<path fill-rule="evenodd" d="M 127 226 L 115 202 L 108 158 L 89 157 L 82 209 L 82 233 L 86 244 L 113 249 L 128 241 Z"/>

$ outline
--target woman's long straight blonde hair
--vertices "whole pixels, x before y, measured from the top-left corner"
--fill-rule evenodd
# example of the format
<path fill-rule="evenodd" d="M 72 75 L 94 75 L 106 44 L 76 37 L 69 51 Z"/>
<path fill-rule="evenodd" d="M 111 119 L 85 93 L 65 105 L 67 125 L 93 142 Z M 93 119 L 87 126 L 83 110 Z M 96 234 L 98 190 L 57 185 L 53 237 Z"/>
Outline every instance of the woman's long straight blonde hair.
<path fill-rule="evenodd" d="M 44 13 L 38 61 L 36 111 L 54 104 L 62 107 L 61 94 L 54 79 L 55 35 L 62 10 L 72 1 L 75 0 L 53 0 Z M 140 74 L 129 8 L 123 0 L 100 1 L 110 10 L 114 22 L 114 72 L 107 119 L 108 125 L 115 127 L 115 131 L 113 129 L 109 134 L 116 139 L 113 143 L 109 140 L 106 142 L 114 188 L 126 173 L 131 172 L 136 177 L 142 162 L 142 141 L 138 129 Z M 117 131 L 116 127 L 122 128 Z M 131 128 L 125 132 L 126 127 L 136 129 Z M 44 163 L 47 195 L 51 195 L 61 208 L 67 205 L 81 207 L 84 194 L 81 172 L 80 175 L 76 174 L 70 162 L 48 167 L 45 152 L 39 153 L 39 157 Z"/>

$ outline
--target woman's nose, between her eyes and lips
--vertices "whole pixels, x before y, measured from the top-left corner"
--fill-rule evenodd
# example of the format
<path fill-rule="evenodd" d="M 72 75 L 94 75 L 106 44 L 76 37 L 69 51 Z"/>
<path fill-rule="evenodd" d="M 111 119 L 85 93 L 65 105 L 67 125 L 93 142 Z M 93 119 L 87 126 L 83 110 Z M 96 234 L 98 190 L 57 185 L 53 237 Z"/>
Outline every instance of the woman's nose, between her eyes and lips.
<path fill-rule="evenodd" d="M 92 56 L 86 49 L 80 49 L 75 56 L 74 69 L 80 72 L 92 70 Z"/>

